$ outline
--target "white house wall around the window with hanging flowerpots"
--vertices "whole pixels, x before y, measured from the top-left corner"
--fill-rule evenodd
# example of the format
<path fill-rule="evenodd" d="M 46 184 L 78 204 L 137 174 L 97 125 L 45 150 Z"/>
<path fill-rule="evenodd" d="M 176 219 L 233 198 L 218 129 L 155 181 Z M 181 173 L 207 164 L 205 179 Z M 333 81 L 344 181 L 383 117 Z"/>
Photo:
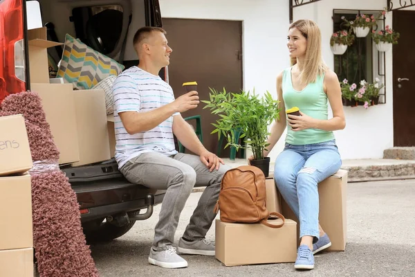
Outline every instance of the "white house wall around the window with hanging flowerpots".
<path fill-rule="evenodd" d="M 333 9 L 382 10 L 386 0 L 322 0 L 294 9 L 294 20 L 313 19 L 322 31 L 323 57 L 333 69 L 330 37 L 333 33 Z M 392 25 L 391 12 L 386 24 Z M 383 150 L 394 145 L 392 105 L 392 52 L 386 53 L 386 104 L 369 107 L 344 107 L 346 128 L 335 132 L 343 159 L 382 158 Z"/>

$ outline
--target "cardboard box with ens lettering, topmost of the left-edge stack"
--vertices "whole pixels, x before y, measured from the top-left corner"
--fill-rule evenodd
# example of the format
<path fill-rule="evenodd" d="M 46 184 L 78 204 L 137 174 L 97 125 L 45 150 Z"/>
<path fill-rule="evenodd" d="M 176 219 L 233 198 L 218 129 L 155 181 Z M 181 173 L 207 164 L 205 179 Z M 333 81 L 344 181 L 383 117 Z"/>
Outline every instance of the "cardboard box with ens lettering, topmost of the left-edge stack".
<path fill-rule="evenodd" d="M 1 116 L 0 130 L 0 176 L 22 173 L 32 168 L 32 154 L 23 116 Z"/>

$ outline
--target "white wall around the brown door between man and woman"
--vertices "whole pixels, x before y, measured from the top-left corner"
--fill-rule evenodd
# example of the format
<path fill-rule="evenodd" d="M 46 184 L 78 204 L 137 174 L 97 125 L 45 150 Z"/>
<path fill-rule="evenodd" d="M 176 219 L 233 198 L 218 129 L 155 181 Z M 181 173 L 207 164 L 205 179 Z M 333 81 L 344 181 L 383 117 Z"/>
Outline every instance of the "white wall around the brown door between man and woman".
<path fill-rule="evenodd" d="M 268 90 L 277 98 L 277 74 L 290 65 L 286 48 L 288 1 L 160 0 L 160 10 L 162 17 L 168 18 L 243 21 L 243 89 L 252 91 L 255 87 L 256 93 Z M 275 147 L 271 161 L 283 145 Z"/>

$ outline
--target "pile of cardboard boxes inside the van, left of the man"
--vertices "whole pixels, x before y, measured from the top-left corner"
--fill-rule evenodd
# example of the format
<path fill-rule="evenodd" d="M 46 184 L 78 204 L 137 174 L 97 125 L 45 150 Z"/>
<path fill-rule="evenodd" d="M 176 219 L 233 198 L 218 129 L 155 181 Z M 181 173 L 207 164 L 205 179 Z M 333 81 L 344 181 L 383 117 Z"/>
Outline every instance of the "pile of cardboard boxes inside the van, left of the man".
<path fill-rule="evenodd" d="M 47 48 L 61 45 L 47 40 L 46 28 L 28 30 L 30 90 L 42 98 L 59 164 L 83 166 L 110 159 L 104 90 L 50 83 Z"/>

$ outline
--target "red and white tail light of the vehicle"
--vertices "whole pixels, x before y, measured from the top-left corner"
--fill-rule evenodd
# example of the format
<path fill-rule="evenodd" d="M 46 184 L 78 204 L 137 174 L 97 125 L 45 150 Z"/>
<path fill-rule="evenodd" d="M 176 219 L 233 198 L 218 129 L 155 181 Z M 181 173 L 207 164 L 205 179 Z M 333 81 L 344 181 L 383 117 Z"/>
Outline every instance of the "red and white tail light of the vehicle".
<path fill-rule="evenodd" d="M 0 0 L 0 103 L 26 90 L 24 0 Z"/>

